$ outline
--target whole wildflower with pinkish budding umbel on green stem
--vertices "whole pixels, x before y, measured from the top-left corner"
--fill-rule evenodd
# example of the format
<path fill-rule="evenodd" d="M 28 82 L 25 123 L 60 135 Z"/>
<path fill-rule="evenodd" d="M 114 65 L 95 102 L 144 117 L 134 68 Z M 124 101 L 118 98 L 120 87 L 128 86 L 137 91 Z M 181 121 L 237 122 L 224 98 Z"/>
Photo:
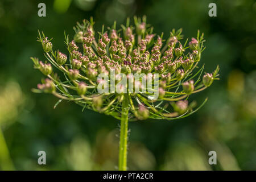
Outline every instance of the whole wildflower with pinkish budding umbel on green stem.
<path fill-rule="evenodd" d="M 146 17 L 134 18 L 134 22 L 135 26 L 127 19 L 122 32 L 117 32 L 115 23 L 109 31 L 104 32 L 102 27 L 98 36 L 93 30 L 92 19 L 78 23 L 74 28 L 74 40 L 69 41 L 65 36 L 69 55 L 59 51 L 56 54 L 50 40 L 39 32 L 38 41 L 50 63 L 31 58 L 34 67 L 51 78 L 39 84 L 38 91 L 52 93 L 61 100 L 74 101 L 86 109 L 121 119 L 121 159 L 126 159 L 126 149 L 123 148 L 127 146 L 127 122 L 130 119 L 187 117 L 193 111 L 191 105 L 188 107 L 188 97 L 210 86 L 213 80 L 217 80 L 219 71 L 217 67 L 212 74 L 204 75 L 203 83 L 192 80 L 200 80 L 203 72 L 203 67 L 196 70 L 204 50 L 203 34 L 192 38 L 190 51 L 184 54 L 181 29 L 172 30 L 170 36 L 164 38 L 163 34 L 152 33 L 153 28 L 146 23 Z M 76 43 L 82 43 L 81 52 L 81 44 Z M 70 61 L 67 61 L 68 57 Z M 64 76 L 53 74 L 51 64 Z M 143 74 L 145 77 L 141 77 Z M 99 86 L 104 92 L 98 89 Z M 186 101 L 182 101 L 184 98 Z M 126 169 L 125 162 L 120 163 L 119 169 Z"/>

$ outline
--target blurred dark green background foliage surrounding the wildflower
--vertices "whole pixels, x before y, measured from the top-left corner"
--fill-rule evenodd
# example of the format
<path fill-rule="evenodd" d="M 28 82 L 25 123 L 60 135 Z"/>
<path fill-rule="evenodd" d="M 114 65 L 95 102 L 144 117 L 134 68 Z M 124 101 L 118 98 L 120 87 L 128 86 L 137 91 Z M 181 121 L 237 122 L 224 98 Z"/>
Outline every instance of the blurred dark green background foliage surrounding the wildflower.
<path fill-rule="evenodd" d="M 0 1 L 0 169 L 117 169 L 117 119 L 85 110 L 72 102 L 53 106 L 57 98 L 35 94 L 43 75 L 30 56 L 44 60 L 36 42 L 38 30 L 64 50 L 64 31 L 94 17 L 96 30 L 127 16 L 147 15 L 154 32 L 169 35 L 183 28 L 185 38 L 204 32 L 201 64 L 212 72 L 220 65 L 220 81 L 192 97 L 203 109 L 188 118 L 129 123 L 128 167 L 134 170 L 256 170 L 256 3 L 254 0 L 55 0 Z M 208 5 L 217 5 L 217 17 Z M 47 164 L 38 164 L 38 151 Z M 217 152 L 210 166 L 208 152 Z"/>

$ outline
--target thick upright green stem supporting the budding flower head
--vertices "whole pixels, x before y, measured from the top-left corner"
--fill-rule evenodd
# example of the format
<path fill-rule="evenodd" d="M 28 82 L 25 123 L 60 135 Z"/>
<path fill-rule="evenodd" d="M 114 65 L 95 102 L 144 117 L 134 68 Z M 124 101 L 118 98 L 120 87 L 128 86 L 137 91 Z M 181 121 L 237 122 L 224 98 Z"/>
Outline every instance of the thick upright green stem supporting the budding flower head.
<path fill-rule="evenodd" d="M 127 162 L 127 140 L 128 140 L 128 113 L 129 113 L 129 100 L 125 96 L 123 99 L 122 106 L 122 117 L 121 117 L 121 131 L 119 140 L 119 171 L 126 171 Z"/>

